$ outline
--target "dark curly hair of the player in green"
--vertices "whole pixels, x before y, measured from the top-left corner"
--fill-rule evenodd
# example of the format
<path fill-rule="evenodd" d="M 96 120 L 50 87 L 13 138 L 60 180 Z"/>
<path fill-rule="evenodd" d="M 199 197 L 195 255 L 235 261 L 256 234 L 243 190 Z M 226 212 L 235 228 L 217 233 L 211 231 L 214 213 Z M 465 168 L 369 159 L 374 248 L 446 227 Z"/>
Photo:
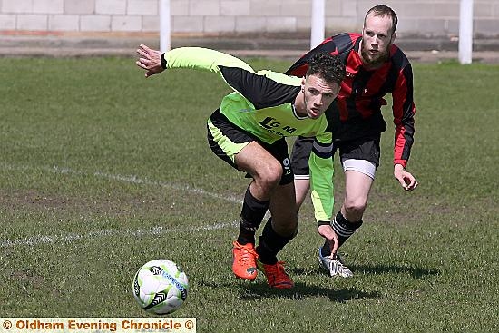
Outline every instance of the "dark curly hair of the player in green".
<path fill-rule="evenodd" d="M 317 74 L 328 83 L 340 84 L 345 77 L 345 64 L 338 55 L 332 55 L 325 52 L 314 54 L 308 60 L 308 75 Z"/>

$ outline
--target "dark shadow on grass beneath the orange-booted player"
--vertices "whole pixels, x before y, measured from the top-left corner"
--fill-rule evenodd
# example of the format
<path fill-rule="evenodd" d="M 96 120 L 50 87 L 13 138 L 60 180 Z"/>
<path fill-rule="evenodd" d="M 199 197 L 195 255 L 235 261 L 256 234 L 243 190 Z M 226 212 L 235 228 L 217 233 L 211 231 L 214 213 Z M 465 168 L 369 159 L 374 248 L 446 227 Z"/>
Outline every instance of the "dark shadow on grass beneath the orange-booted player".
<path fill-rule="evenodd" d="M 327 297 L 333 302 L 343 303 L 350 299 L 379 299 L 377 292 L 365 292 L 357 289 L 328 289 L 312 284 L 296 282 L 292 289 L 272 289 L 265 281 L 254 282 L 244 286 L 241 300 L 288 298 L 307 299 L 309 297 Z"/>

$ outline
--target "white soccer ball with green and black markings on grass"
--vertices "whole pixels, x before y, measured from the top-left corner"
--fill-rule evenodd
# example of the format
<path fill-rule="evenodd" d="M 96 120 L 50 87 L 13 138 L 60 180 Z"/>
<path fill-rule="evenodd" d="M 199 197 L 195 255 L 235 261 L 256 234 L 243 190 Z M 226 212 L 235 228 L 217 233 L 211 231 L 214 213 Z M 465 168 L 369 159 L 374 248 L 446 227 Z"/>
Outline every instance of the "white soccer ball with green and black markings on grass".
<path fill-rule="evenodd" d="M 133 278 L 133 297 L 142 309 L 157 315 L 180 309 L 188 289 L 187 275 L 170 260 L 151 260 Z"/>

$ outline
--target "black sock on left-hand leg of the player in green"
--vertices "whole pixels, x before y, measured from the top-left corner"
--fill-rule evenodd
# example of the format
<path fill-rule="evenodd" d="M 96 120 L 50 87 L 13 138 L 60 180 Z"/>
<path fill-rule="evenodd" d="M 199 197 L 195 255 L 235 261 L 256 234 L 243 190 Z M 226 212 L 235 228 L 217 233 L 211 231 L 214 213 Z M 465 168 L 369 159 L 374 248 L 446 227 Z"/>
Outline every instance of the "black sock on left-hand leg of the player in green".
<path fill-rule="evenodd" d="M 261 220 L 269 209 L 269 201 L 259 201 L 249 191 L 244 195 L 242 211 L 240 212 L 240 234 L 238 242 L 241 245 L 255 243 L 255 232 L 259 229 Z"/>

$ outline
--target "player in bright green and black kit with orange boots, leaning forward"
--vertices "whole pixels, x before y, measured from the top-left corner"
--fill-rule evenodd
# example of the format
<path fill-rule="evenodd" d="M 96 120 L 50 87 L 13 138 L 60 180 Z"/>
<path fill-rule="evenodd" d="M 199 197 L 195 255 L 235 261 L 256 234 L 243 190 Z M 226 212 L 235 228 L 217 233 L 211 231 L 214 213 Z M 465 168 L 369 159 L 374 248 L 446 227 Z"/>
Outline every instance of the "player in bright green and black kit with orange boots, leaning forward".
<path fill-rule="evenodd" d="M 217 73 L 233 90 L 208 120 L 211 150 L 252 178 L 240 213 L 240 233 L 233 242 L 232 271 L 240 279 L 254 280 L 258 267 L 270 287 L 292 288 L 284 262 L 277 259 L 279 250 L 298 231 L 294 177 L 285 138 L 315 137 L 309 158 L 312 202 L 319 234 L 336 244 L 334 232 L 321 230 L 329 226 L 334 201 L 332 134 L 325 111 L 338 95 L 345 65 L 337 55 L 317 54 L 308 61 L 305 77 L 298 78 L 255 72 L 238 58 L 200 47 L 181 47 L 162 54 L 140 45 L 137 53 L 136 64 L 146 71 L 146 77 L 172 68 L 189 68 Z M 255 248 L 255 233 L 268 209 L 272 219 Z"/>

